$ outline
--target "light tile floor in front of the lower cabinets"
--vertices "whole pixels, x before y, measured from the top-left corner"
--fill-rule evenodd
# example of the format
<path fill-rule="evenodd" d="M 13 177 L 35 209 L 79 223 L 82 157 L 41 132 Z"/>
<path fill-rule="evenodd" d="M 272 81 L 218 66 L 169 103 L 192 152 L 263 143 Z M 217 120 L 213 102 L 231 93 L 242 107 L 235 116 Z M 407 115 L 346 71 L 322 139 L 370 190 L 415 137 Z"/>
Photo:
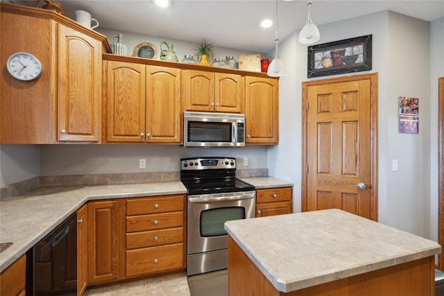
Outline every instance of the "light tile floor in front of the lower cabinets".
<path fill-rule="evenodd" d="M 86 290 L 85 296 L 189 296 L 185 272 Z"/>

